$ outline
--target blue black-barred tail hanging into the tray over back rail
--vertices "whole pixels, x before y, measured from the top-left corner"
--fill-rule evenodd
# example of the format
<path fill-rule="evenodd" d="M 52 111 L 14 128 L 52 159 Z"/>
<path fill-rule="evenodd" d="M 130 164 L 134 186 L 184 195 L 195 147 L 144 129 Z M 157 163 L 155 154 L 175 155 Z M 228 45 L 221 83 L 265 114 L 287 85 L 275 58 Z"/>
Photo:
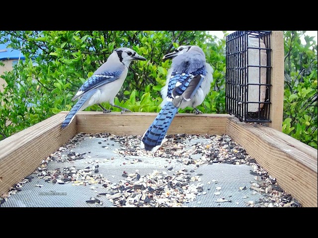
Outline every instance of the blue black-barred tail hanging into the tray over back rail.
<path fill-rule="evenodd" d="M 152 150 L 156 146 L 160 146 L 166 132 L 177 113 L 178 109 L 172 102 L 164 104 L 154 122 L 146 131 L 142 142 L 145 145 L 145 150 Z"/>

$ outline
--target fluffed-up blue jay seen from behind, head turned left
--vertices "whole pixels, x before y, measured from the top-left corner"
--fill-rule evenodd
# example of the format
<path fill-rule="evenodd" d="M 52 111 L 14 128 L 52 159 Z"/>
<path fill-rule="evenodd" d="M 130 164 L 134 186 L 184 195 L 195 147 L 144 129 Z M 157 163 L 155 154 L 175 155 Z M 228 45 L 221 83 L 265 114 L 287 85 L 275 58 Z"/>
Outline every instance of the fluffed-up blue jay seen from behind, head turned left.
<path fill-rule="evenodd" d="M 141 148 L 156 151 L 166 135 L 178 108 L 192 107 L 196 114 L 210 91 L 213 68 L 206 63 L 205 55 L 198 46 L 179 46 L 162 60 L 172 59 L 165 86 L 161 89 L 161 110 L 142 137 Z"/>

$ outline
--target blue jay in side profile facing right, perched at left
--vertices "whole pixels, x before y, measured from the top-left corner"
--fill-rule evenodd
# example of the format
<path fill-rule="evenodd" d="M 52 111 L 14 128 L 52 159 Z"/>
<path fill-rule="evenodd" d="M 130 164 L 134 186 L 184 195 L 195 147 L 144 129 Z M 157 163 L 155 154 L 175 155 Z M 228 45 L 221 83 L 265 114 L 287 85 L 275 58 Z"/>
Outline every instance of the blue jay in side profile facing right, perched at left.
<path fill-rule="evenodd" d="M 118 48 L 112 52 L 107 61 L 103 63 L 94 74 L 79 88 L 72 101 L 79 98 L 62 123 L 62 128 L 68 126 L 77 112 L 98 104 L 104 113 L 110 110 L 104 109 L 100 103 L 109 102 L 113 107 L 122 109 L 121 113 L 129 109 L 114 105 L 114 98 L 122 87 L 127 76 L 128 67 L 133 60 L 146 60 L 129 48 Z"/>

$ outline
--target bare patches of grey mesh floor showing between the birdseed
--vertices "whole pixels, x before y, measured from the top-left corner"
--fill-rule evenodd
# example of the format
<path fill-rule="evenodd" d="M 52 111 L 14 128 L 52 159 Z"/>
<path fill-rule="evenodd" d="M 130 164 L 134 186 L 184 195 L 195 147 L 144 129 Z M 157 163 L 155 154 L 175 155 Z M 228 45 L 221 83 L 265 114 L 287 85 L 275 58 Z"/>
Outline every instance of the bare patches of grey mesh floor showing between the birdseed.
<path fill-rule="evenodd" d="M 192 146 L 196 143 L 207 144 L 210 139 L 193 139 L 187 144 Z M 140 176 L 151 174 L 154 171 L 166 173 L 173 176 L 176 171 L 184 170 L 190 177 L 199 176 L 200 181 L 193 181 L 190 184 L 202 184 L 201 190 L 193 201 L 188 201 L 183 206 L 188 207 L 246 207 L 249 201 L 255 204 L 264 194 L 249 189 L 251 182 L 255 182 L 255 175 L 251 173 L 250 165 L 234 165 L 226 163 L 208 163 L 197 167 L 194 164 L 185 165 L 177 160 L 165 158 L 150 158 L 147 156 L 125 156 L 115 153 L 121 145 L 108 138 L 90 138 L 77 143 L 72 150 L 74 153 L 82 154 L 82 159 L 60 162 L 49 161 L 47 171 L 74 168 L 81 170 L 87 167 L 98 165 L 98 172 L 92 175 L 102 175 L 108 179 L 111 186 L 118 181 L 125 180 L 123 171 L 133 174 L 136 171 Z M 67 156 L 70 150 L 61 152 L 62 157 Z M 199 155 L 195 155 L 199 156 Z M 192 159 L 195 159 L 195 156 Z M 72 169 L 70 169 L 72 170 Z M 50 183 L 34 174 L 29 182 L 26 182 L 21 191 L 11 195 L 1 207 L 111 207 L 112 202 L 105 196 L 107 190 L 102 184 L 94 183 L 77 185 L 74 181 L 68 183 Z M 39 186 L 42 185 L 42 186 Z M 241 190 L 240 187 L 246 187 Z M 103 195 L 101 195 L 103 194 Z M 113 194 L 113 193 L 112 193 Z M 90 204 L 86 202 L 91 197 L 96 197 L 102 204 Z M 218 199 L 224 199 L 220 202 Z"/>

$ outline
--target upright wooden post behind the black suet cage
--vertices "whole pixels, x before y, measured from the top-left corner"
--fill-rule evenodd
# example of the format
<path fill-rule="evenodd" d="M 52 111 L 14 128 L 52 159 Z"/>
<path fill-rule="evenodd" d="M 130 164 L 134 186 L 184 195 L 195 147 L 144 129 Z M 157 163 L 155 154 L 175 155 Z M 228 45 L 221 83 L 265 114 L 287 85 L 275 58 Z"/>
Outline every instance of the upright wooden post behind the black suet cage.
<path fill-rule="evenodd" d="M 269 126 L 282 131 L 284 104 L 284 33 L 272 31 L 270 38 L 271 53 L 271 93 Z"/>

